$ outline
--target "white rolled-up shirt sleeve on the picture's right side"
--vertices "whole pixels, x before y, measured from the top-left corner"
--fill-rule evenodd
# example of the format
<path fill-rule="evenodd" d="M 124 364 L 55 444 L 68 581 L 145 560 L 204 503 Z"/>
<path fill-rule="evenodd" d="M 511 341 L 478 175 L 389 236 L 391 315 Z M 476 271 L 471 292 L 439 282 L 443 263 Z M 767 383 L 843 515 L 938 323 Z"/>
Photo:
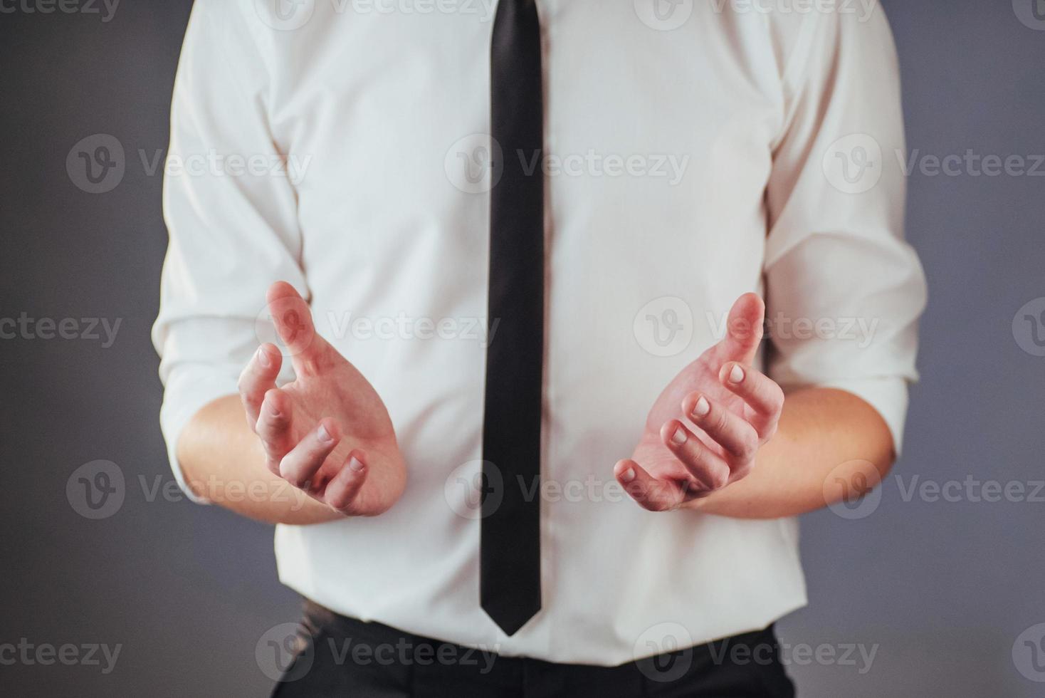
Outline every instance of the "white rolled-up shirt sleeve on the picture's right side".
<path fill-rule="evenodd" d="M 899 68 L 881 6 L 809 19 L 782 82 L 766 192 L 768 371 L 785 389 L 866 400 L 899 453 L 926 286 L 904 240 Z"/>

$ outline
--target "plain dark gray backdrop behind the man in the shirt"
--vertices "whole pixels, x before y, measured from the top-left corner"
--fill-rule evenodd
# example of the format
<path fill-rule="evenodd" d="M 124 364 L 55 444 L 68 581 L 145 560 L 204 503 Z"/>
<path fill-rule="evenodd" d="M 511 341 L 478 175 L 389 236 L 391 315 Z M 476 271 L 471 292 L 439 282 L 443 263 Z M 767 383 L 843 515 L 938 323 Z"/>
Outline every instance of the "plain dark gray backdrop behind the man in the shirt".
<path fill-rule="evenodd" d="M 1045 296 L 1045 179 L 975 164 L 934 174 L 925 159 L 1021 155 L 1029 169 L 1045 153 L 1045 20 L 1031 2 L 887 3 L 908 155 L 924 165 L 907 226 L 930 284 L 923 380 L 881 497 L 804 518 L 811 605 L 780 630 L 805 696 L 1045 694 L 1045 350 L 1030 333 L 1045 328 L 1024 319 L 1045 301 L 1021 310 Z M 266 695 L 255 647 L 297 619 L 272 529 L 169 496 L 157 425 L 148 330 L 166 234 L 147 165 L 166 147 L 189 5 L 129 0 L 110 17 L 86 0 L 52 14 L 0 3 L 0 319 L 73 319 L 64 333 L 78 338 L 40 336 L 44 323 L 0 340 L 0 693 Z M 92 194 L 66 160 L 99 133 L 125 148 L 125 172 Z M 115 341 L 82 319 L 119 320 Z M 83 497 L 73 506 L 74 471 L 95 460 L 125 475 L 122 505 L 98 519 L 77 512 Z M 984 481 L 1007 494 L 998 497 Z M 28 660 L 11 664 L 19 644 Z M 120 654 L 113 665 L 90 646 Z"/>

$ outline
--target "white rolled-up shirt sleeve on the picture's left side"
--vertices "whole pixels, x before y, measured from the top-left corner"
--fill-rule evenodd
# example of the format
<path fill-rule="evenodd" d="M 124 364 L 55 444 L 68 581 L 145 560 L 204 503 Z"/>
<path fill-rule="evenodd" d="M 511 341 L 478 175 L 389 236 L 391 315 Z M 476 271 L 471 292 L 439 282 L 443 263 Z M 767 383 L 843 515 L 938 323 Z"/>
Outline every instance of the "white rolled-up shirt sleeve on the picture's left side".
<path fill-rule="evenodd" d="M 160 425 L 176 446 L 205 404 L 236 393 L 260 343 L 276 279 L 306 292 L 296 194 L 266 119 L 268 71 L 243 4 L 196 0 L 175 80 L 163 208 L 169 246 L 153 343 L 164 385 Z"/>

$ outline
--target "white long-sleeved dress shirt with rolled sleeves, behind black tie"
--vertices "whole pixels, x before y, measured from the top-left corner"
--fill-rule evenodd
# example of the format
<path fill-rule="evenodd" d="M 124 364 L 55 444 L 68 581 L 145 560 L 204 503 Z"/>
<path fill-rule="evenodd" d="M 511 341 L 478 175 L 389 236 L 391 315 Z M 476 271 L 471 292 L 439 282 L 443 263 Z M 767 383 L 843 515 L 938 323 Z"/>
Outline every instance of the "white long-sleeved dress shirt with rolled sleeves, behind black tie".
<path fill-rule="evenodd" d="M 899 447 L 925 285 L 888 164 L 904 148 L 892 39 L 880 7 L 659 3 L 538 0 L 543 607 L 508 637 L 479 605 L 472 488 L 494 8 L 196 0 L 154 328 L 175 472 L 184 486 L 186 422 L 236 393 L 272 339 L 264 294 L 278 279 L 384 398 L 409 471 L 380 516 L 277 527 L 288 586 L 414 633 L 594 665 L 660 651 L 648 641 L 665 628 L 697 644 L 805 604 L 795 520 L 651 513 L 612 467 L 749 290 L 767 301 L 767 372 L 862 397 Z"/>

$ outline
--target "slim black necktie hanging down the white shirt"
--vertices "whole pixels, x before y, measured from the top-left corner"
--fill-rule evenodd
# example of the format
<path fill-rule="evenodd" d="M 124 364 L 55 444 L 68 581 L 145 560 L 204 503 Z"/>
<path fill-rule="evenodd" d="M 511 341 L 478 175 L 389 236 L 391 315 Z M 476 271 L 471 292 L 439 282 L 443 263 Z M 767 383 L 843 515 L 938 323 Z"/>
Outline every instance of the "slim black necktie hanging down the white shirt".
<path fill-rule="evenodd" d="M 511 635 L 540 610 L 544 187 L 535 0 L 497 3 L 490 97 L 492 136 L 504 162 L 490 191 L 487 318 L 491 328 L 497 324 L 486 351 L 480 603 Z M 534 163 L 528 172 L 524 165 Z"/>

